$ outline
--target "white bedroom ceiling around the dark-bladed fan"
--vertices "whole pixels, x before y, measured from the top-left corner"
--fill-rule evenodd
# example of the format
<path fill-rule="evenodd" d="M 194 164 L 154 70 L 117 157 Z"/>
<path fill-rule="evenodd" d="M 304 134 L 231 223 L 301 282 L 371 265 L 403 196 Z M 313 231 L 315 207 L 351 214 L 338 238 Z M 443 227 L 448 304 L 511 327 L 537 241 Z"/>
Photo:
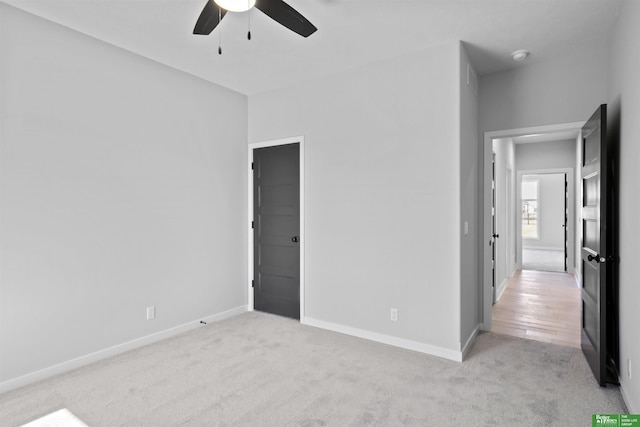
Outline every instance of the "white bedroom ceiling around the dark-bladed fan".
<path fill-rule="evenodd" d="M 318 31 L 305 39 L 258 10 L 209 36 L 207 0 L 2 0 L 244 94 L 462 40 L 480 75 L 544 61 L 607 37 L 620 0 L 287 0 Z M 218 55 L 221 31 L 223 55 Z M 531 51 L 524 63 L 510 53 Z"/>

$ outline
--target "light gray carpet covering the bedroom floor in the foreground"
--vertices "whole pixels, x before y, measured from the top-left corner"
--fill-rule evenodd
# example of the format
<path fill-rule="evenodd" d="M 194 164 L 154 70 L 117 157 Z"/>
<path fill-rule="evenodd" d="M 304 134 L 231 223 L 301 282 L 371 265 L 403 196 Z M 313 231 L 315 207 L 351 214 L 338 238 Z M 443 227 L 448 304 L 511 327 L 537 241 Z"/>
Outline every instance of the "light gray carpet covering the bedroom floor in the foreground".
<path fill-rule="evenodd" d="M 0 396 L 0 423 L 586 426 L 622 413 L 579 350 L 481 334 L 460 364 L 246 313 Z"/>

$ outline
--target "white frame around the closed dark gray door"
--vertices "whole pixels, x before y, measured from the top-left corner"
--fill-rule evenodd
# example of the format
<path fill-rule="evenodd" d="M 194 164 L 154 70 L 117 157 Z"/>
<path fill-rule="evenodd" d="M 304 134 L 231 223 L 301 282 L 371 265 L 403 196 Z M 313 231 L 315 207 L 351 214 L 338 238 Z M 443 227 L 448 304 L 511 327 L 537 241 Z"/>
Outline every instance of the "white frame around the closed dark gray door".
<path fill-rule="evenodd" d="M 249 218 L 247 227 L 247 247 L 249 248 L 249 256 L 247 263 L 247 307 L 249 311 L 254 310 L 253 301 L 253 228 L 251 223 L 253 221 L 253 170 L 251 169 L 251 163 L 253 163 L 253 150 L 256 148 L 275 147 L 278 145 L 287 145 L 297 143 L 300 147 L 300 321 L 304 320 L 304 246 L 305 246 L 305 226 L 304 226 L 304 136 L 295 136 L 290 138 L 274 139 L 270 141 L 251 142 L 249 143 L 249 150 L 247 155 L 247 194 L 248 194 L 248 215 Z"/>

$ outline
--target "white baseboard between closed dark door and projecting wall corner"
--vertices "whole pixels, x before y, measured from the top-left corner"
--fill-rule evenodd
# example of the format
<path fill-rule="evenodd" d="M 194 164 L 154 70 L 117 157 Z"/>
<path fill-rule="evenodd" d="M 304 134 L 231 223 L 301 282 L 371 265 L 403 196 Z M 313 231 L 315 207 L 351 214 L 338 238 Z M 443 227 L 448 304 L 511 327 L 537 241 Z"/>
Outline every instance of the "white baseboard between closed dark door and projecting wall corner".
<path fill-rule="evenodd" d="M 351 326 L 339 325 L 337 323 L 325 322 L 324 320 L 313 319 L 310 317 L 305 317 L 301 323 L 320 329 L 326 329 L 345 335 L 363 338 L 369 341 L 375 341 L 382 344 L 392 345 L 394 347 L 400 347 L 407 350 L 429 354 L 432 356 L 442 357 L 443 359 L 453 360 L 454 362 L 462 362 L 461 351 L 425 344 L 418 341 L 407 340 L 404 338 L 393 337 L 391 335 L 380 334 L 377 332 L 366 331 L 364 329 L 353 328 Z"/>

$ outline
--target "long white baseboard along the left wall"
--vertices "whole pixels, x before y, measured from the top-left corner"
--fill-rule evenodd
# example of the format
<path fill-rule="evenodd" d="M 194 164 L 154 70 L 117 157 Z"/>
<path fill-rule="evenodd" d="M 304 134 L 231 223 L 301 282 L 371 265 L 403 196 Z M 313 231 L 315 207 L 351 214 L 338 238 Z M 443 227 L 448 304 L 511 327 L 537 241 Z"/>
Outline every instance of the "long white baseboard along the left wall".
<path fill-rule="evenodd" d="M 202 326 L 200 321 L 204 321 L 207 323 L 219 322 L 221 320 L 228 319 L 229 317 L 233 317 L 238 314 L 245 313 L 246 311 L 247 311 L 246 305 L 236 307 L 231 310 L 223 311 L 222 313 L 213 314 L 205 318 L 200 318 L 198 320 L 193 320 L 191 322 L 187 322 L 182 325 L 175 326 L 173 328 L 169 328 L 161 332 L 156 332 L 154 334 L 137 338 L 135 340 L 131 340 L 122 344 L 118 344 L 113 347 L 105 348 L 104 350 L 99 350 L 94 353 L 87 354 L 85 356 L 80 356 L 76 359 L 62 362 L 57 365 L 41 369 L 39 371 L 31 372 L 26 375 L 22 375 L 18 378 L 13 378 L 7 381 L 3 381 L 0 383 L 0 393 L 4 393 L 10 390 L 15 390 L 17 388 L 20 388 L 29 384 L 33 384 L 38 381 L 42 381 L 47 378 L 51 378 L 53 376 L 71 371 L 73 369 L 77 369 L 82 366 L 86 366 L 91 363 L 98 362 L 108 357 L 116 356 L 118 354 L 135 350 L 136 348 L 140 348 L 145 345 L 152 344 L 154 342 L 165 340 L 174 335 L 178 335 L 183 332 L 187 332 Z"/>

